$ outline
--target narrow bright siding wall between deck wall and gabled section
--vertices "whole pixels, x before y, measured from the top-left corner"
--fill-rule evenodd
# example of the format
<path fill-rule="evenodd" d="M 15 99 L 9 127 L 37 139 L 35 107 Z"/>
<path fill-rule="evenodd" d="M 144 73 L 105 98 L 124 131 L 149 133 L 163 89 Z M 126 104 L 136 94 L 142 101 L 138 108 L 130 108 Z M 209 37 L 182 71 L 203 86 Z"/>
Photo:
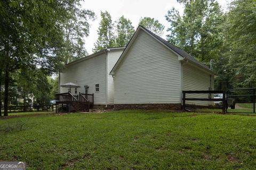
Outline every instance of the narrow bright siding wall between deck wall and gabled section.
<path fill-rule="evenodd" d="M 110 49 L 108 52 L 108 104 L 114 104 L 114 79 L 112 75 L 110 75 L 110 71 L 113 69 L 116 64 L 118 58 L 123 53 L 124 48 L 121 49 Z"/>

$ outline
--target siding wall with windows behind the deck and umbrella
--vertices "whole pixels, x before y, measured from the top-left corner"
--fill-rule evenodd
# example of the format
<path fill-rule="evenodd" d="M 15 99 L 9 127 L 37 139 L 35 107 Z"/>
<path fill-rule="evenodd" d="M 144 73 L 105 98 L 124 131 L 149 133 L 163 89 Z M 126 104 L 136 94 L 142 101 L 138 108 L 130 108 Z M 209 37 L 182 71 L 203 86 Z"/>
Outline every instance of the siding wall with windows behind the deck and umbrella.
<path fill-rule="evenodd" d="M 84 86 L 88 86 L 88 94 L 94 94 L 95 105 L 106 105 L 107 64 L 106 53 L 91 57 L 87 60 L 69 65 L 60 73 L 60 84 L 73 82 L 81 86 L 79 92 L 85 93 Z M 95 84 L 99 84 L 100 90 L 95 91 Z M 60 92 L 68 92 L 68 88 L 60 87 Z M 71 89 L 75 94 L 75 89 Z"/>

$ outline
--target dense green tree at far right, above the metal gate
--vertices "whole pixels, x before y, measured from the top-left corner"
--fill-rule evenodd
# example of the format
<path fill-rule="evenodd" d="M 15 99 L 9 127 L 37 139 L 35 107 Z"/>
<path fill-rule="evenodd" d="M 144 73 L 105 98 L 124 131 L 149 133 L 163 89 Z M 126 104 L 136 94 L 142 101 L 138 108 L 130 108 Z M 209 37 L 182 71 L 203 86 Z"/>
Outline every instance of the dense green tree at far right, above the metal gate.
<path fill-rule="evenodd" d="M 235 0 L 230 5 L 227 21 L 223 26 L 227 67 L 232 68 L 233 86 L 256 86 L 256 2 Z"/>

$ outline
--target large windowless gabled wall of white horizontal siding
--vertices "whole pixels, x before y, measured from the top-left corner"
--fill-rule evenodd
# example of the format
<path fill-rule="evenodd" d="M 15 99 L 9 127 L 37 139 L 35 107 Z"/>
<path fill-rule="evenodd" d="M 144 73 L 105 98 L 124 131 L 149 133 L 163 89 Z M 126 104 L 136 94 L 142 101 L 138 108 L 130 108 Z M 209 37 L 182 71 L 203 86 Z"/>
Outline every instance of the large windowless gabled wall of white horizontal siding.
<path fill-rule="evenodd" d="M 145 31 L 115 71 L 115 104 L 180 103 L 178 56 Z"/>

